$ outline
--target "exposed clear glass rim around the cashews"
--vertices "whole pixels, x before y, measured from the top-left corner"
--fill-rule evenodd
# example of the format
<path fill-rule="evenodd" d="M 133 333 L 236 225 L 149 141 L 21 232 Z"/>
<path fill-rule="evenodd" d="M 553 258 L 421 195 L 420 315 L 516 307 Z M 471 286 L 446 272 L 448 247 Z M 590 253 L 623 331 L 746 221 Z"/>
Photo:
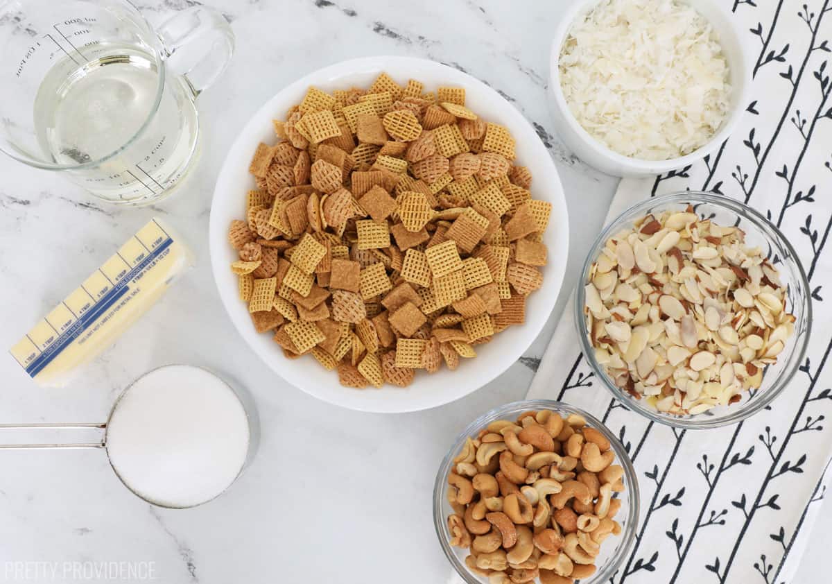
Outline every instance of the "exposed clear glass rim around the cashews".
<path fill-rule="evenodd" d="M 439 470 L 436 474 L 436 481 L 433 483 L 433 527 L 436 529 L 436 535 L 439 539 L 439 544 L 442 546 L 442 551 L 445 552 L 445 557 L 451 563 L 453 568 L 468 584 L 482 584 L 469 570 L 468 567 L 459 561 L 459 558 L 453 552 L 453 547 L 449 543 L 449 534 L 447 521 L 448 517 L 443 514 L 443 504 L 445 503 L 445 492 L 448 488 L 448 473 L 453 465 L 453 458 L 457 456 L 460 448 L 463 447 L 465 439 L 475 436 L 482 428 L 485 428 L 488 423 L 494 420 L 503 418 L 515 418 L 518 414 L 526 412 L 530 409 L 549 409 L 561 414 L 577 413 L 587 420 L 587 426 L 595 428 L 601 432 L 607 440 L 610 441 L 612 450 L 616 453 L 616 462 L 621 464 L 624 468 L 624 483 L 626 486 L 627 497 L 627 515 L 623 529 L 620 535 L 613 536 L 615 540 L 619 540 L 616 552 L 607 561 L 607 565 L 599 569 L 591 578 L 582 579 L 582 584 L 593 584 L 593 582 L 606 582 L 609 577 L 621 566 L 624 558 L 630 553 L 633 543 L 636 541 L 636 523 L 638 522 L 641 494 L 638 487 L 638 478 L 636 478 L 636 469 L 633 468 L 630 457 L 622 443 L 618 440 L 616 435 L 605 426 L 601 420 L 593 416 L 591 413 L 569 405 L 568 403 L 557 402 L 552 399 L 526 399 L 518 402 L 506 403 L 488 410 L 483 415 L 476 418 L 472 423 L 458 434 L 454 440 L 453 445 L 445 454 L 442 463 L 439 465 Z M 615 541 L 613 537 L 607 539 L 607 543 Z"/>

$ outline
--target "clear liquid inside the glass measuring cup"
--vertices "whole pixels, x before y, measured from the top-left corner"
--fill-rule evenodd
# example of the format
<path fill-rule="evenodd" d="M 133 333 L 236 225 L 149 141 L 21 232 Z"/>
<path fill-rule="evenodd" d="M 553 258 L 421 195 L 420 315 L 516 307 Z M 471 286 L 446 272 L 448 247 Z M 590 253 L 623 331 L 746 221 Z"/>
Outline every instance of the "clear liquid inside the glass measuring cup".
<path fill-rule="evenodd" d="M 196 154 L 198 125 L 190 89 L 165 80 L 156 104 L 156 58 L 134 45 L 99 43 L 63 57 L 43 78 L 34 103 L 42 149 L 89 191 L 115 202 L 168 194 Z M 83 58 L 82 58 L 83 57 Z"/>

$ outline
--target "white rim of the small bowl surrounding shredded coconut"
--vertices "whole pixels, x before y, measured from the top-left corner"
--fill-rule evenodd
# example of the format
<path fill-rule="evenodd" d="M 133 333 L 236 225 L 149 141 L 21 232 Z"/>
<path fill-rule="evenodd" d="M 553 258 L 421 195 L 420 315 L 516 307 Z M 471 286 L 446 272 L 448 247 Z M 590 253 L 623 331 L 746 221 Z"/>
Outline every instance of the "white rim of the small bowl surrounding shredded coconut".
<path fill-rule="evenodd" d="M 713 0 L 683 1 L 690 3 L 691 6 L 696 2 L 709 2 L 711 6 L 720 13 L 722 10 L 722 8 L 716 5 Z M 566 121 L 567 125 L 572 129 L 572 131 L 577 133 L 577 136 L 582 139 L 585 146 L 592 149 L 596 156 L 606 158 L 608 162 L 616 166 L 626 168 L 631 172 L 664 174 L 666 172 L 684 168 L 685 166 L 693 164 L 694 162 L 699 161 L 705 156 L 711 154 L 711 152 L 715 151 L 716 148 L 722 144 L 722 142 L 728 139 L 728 137 L 734 132 L 736 126 L 739 125 L 742 116 L 745 114 L 745 109 L 747 107 L 745 104 L 748 103 L 748 99 L 750 97 L 751 68 L 749 55 L 747 49 L 745 48 L 745 43 L 742 42 L 742 38 L 740 38 L 734 24 L 730 22 L 728 18 L 725 19 L 728 24 L 727 29 L 730 30 L 731 35 L 733 35 L 733 40 L 736 43 L 736 46 L 740 47 L 742 72 L 738 78 L 741 80 L 742 84 L 739 88 L 734 87 L 734 92 L 739 91 L 734 97 L 732 97 L 732 101 L 735 101 L 735 106 L 731 110 L 726 121 L 722 124 L 719 131 L 711 136 L 711 139 L 705 144 L 685 156 L 670 158 L 665 161 L 651 161 L 643 158 L 631 158 L 630 156 L 624 156 L 612 150 L 612 148 L 603 144 L 601 141 L 598 141 L 597 138 L 592 136 L 592 134 L 584 130 L 583 126 L 581 126 L 581 124 L 579 124 L 575 119 L 575 116 L 572 115 L 572 111 L 569 110 L 569 106 L 567 105 L 566 98 L 563 97 L 563 91 L 561 88 L 560 68 L 558 67 L 558 63 L 560 62 L 563 39 L 566 38 L 567 33 L 572 28 L 572 22 L 575 21 L 575 18 L 579 13 L 586 12 L 587 7 L 592 4 L 597 5 L 601 2 L 602 0 L 576 0 L 576 2 L 573 2 L 572 6 L 570 6 L 567 11 L 563 13 L 561 20 L 557 22 L 557 26 L 555 27 L 549 56 L 549 92 L 552 93 L 557 109 L 561 111 L 562 117 Z M 694 6 L 694 8 L 696 8 L 696 6 Z M 731 63 L 731 66 L 733 67 L 733 63 Z"/>

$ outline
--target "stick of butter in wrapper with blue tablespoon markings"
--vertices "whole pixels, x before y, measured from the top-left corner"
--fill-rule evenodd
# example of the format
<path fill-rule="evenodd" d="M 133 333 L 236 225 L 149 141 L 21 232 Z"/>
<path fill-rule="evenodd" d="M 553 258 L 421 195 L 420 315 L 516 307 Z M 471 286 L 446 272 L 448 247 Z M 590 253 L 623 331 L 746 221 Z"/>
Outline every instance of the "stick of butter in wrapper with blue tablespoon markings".
<path fill-rule="evenodd" d="M 178 235 L 151 220 L 20 339 L 12 357 L 38 385 L 62 387 L 193 263 Z"/>

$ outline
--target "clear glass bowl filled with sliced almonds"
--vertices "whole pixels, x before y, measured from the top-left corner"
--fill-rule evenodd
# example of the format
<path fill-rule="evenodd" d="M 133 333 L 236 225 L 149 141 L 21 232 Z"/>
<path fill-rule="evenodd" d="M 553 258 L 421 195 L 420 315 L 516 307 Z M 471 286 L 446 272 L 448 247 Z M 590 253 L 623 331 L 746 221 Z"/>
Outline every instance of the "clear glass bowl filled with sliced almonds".
<path fill-rule="evenodd" d="M 575 316 L 596 377 L 628 408 L 716 428 L 765 408 L 803 362 L 809 282 L 763 215 L 686 191 L 633 205 L 603 230 Z"/>

